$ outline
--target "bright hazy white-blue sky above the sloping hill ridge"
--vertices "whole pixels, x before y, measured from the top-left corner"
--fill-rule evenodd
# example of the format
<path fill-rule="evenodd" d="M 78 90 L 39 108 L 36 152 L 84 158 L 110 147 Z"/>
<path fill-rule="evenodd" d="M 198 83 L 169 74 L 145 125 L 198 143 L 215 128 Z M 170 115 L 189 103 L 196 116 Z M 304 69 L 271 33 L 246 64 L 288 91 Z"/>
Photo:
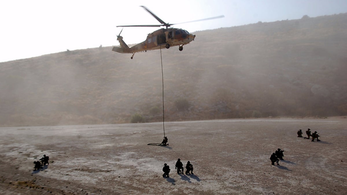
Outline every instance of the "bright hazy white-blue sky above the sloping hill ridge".
<path fill-rule="evenodd" d="M 160 24 L 142 5 L 166 23 L 225 16 L 174 26 L 188 32 L 347 12 L 347 0 L 7 0 L 0 2 L 0 62 L 119 45 L 117 25 Z M 127 27 L 121 35 L 138 43 L 156 29 Z"/>

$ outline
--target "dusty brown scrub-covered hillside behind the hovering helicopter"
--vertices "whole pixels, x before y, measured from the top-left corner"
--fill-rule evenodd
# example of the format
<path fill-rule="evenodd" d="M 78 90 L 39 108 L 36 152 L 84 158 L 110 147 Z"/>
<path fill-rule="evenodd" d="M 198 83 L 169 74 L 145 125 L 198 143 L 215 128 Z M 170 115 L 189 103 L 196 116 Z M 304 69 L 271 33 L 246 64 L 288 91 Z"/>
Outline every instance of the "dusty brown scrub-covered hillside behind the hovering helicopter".
<path fill-rule="evenodd" d="M 347 14 L 194 34 L 162 50 L 166 120 L 347 115 Z M 0 63 L 0 125 L 162 121 L 160 51 L 130 56 L 102 47 Z"/>

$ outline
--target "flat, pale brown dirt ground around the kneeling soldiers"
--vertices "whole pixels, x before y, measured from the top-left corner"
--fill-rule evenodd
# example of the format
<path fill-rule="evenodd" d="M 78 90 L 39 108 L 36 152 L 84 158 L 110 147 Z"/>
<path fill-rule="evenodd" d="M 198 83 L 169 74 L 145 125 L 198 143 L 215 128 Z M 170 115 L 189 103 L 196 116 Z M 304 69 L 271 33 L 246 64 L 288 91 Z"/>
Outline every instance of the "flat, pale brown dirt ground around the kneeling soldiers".
<path fill-rule="evenodd" d="M 311 128 L 321 142 L 297 137 Z M 0 128 L 1 194 L 346 194 L 347 119 Z M 285 150 L 280 166 L 269 160 Z M 49 166 L 33 171 L 43 154 Z M 194 165 L 178 175 L 175 162 Z M 168 163 L 170 178 L 162 177 Z"/>

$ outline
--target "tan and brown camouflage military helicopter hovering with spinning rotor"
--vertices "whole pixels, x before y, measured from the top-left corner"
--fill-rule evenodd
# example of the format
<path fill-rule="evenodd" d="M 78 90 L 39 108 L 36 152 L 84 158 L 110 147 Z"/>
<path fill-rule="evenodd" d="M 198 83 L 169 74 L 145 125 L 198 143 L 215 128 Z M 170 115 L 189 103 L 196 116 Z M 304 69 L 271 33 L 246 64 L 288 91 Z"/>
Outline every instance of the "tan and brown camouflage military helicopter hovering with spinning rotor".
<path fill-rule="evenodd" d="M 176 25 L 176 24 L 169 24 L 164 22 L 162 19 L 160 19 L 158 16 L 153 14 L 152 11 L 147 9 L 145 6 L 140 6 L 144 8 L 147 12 L 149 12 L 156 20 L 158 20 L 161 24 L 158 25 L 123 25 L 123 26 L 117 26 L 117 27 L 161 27 L 165 26 L 166 28 L 158 29 L 150 34 L 147 35 L 147 39 L 141 43 L 138 43 L 132 47 L 129 48 L 129 46 L 123 41 L 123 37 L 120 36 L 123 29 L 120 31 L 119 35 L 117 35 L 117 40 L 119 41 L 120 47 L 114 46 L 112 48 L 112 51 L 118 52 L 118 53 L 132 53 L 132 57 L 130 59 L 133 59 L 135 53 L 147 51 L 147 50 L 156 50 L 161 49 L 162 46 L 165 45 L 165 48 L 169 49 L 171 46 L 177 46 L 178 50 L 183 50 L 183 45 L 186 45 L 195 39 L 195 35 L 190 34 L 188 31 L 181 29 L 181 28 L 171 28 L 170 26 Z M 193 20 L 189 22 L 183 22 L 183 23 L 191 23 L 191 22 L 199 22 L 202 20 L 211 20 L 211 19 L 217 19 L 217 18 L 223 18 L 224 16 L 217 16 L 212 18 L 204 18 L 200 20 Z M 177 24 L 183 24 L 183 23 L 177 23 Z M 170 27 L 170 28 L 169 28 Z"/>

